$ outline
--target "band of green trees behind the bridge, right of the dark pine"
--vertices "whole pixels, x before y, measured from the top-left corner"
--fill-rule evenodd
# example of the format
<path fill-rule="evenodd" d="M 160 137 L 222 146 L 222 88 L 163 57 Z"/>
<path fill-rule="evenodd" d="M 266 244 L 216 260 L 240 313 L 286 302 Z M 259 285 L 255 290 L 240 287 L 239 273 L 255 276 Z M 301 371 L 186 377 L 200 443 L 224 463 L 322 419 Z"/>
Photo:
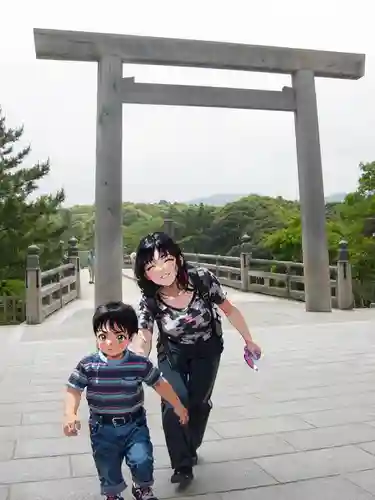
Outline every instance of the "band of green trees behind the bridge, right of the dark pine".
<path fill-rule="evenodd" d="M 70 230 L 89 248 L 94 241 L 92 206 L 70 210 Z M 128 253 L 142 236 L 172 219 L 175 236 L 186 252 L 239 255 L 302 262 L 302 225 L 297 201 L 249 195 L 222 207 L 181 203 L 124 203 L 123 244 Z M 375 162 L 359 165 L 356 191 L 343 202 L 326 204 L 330 264 L 337 261 L 342 239 L 348 242 L 356 304 L 375 301 Z M 247 236 L 244 243 L 244 236 Z"/>

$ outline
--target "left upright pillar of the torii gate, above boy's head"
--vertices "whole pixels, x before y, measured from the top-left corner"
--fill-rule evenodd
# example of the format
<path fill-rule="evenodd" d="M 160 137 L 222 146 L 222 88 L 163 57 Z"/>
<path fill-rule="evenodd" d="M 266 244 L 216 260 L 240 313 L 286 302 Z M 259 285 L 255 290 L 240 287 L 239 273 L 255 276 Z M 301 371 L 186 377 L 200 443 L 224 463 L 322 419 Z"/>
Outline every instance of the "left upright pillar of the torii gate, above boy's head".
<path fill-rule="evenodd" d="M 95 306 L 122 298 L 122 60 L 98 62 L 95 170 Z"/>

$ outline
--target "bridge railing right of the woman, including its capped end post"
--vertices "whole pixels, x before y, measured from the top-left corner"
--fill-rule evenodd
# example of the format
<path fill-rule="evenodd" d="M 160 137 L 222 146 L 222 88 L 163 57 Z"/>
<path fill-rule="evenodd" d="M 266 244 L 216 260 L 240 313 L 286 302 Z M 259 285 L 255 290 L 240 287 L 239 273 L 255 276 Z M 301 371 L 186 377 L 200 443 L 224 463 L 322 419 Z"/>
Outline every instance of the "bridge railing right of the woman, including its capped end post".
<path fill-rule="evenodd" d="M 212 271 L 224 286 L 243 292 L 256 292 L 294 300 L 305 300 L 304 265 L 267 259 L 255 259 L 250 254 L 240 257 L 185 253 L 192 265 Z M 330 266 L 332 306 L 353 307 L 351 269 L 347 243 L 342 241 L 336 266 Z"/>

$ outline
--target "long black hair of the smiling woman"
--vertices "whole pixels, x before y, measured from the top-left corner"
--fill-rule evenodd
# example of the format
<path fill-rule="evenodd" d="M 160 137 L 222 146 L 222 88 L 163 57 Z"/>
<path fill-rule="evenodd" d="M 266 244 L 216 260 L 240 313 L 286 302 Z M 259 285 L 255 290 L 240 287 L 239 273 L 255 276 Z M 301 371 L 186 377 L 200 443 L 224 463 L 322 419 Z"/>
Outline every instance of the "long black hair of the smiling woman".
<path fill-rule="evenodd" d="M 175 257 L 177 265 L 177 284 L 180 288 L 186 289 L 189 278 L 186 261 L 181 248 L 166 233 L 156 232 L 148 234 L 141 239 L 135 257 L 134 273 L 137 278 L 138 286 L 144 295 L 146 297 L 155 297 L 156 292 L 160 288 L 160 285 L 146 278 L 145 272 L 147 264 L 154 260 L 155 250 L 157 250 L 161 256 L 171 255 Z"/>

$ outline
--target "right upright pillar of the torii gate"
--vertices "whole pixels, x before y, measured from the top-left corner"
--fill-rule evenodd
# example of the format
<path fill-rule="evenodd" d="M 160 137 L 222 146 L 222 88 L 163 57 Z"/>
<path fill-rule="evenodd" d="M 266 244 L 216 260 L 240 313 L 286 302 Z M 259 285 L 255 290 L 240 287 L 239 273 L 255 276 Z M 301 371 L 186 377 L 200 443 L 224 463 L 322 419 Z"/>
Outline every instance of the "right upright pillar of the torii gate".
<path fill-rule="evenodd" d="M 314 73 L 299 70 L 293 74 L 292 82 L 306 310 L 330 312 L 331 284 Z"/>

